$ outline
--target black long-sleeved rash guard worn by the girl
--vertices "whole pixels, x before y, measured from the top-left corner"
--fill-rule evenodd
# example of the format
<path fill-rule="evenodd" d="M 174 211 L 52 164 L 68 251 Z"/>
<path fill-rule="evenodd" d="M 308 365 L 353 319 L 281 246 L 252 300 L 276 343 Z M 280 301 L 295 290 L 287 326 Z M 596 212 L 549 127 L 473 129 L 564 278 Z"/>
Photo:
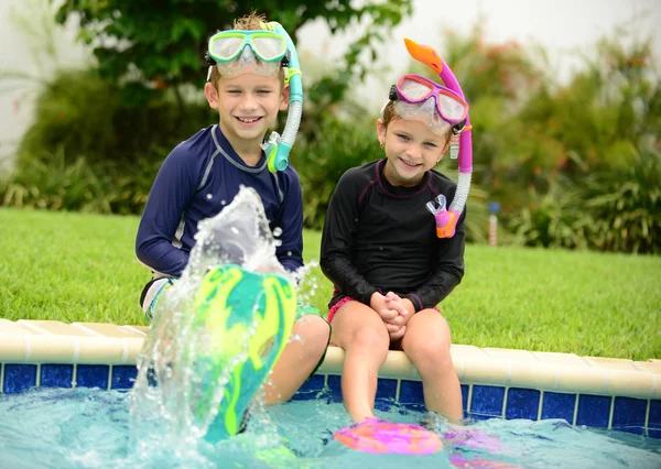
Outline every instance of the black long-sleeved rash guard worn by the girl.
<path fill-rule="evenodd" d="M 321 268 L 335 285 L 329 307 L 349 296 L 369 306 L 375 292 L 409 298 L 415 312 L 436 306 L 464 276 L 465 218 L 452 238 L 436 237 L 425 208 L 456 184 L 427 171 L 414 187 L 391 185 L 386 160 L 348 170 L 337 183 L 322 234 Z"/>

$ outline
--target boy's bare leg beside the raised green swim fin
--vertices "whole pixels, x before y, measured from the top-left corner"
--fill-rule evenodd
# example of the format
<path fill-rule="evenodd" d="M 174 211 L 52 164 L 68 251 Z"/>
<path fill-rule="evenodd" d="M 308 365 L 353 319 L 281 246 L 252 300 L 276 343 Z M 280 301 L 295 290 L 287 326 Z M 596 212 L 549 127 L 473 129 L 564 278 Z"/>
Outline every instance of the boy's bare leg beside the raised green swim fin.
<path fill-rule="evenodd" d="M 306 314 L 294 324 L 292 336 L 264 384 L 266 403 L 285 402 L 322 363 L 330 325 L 318 314 Z"/>

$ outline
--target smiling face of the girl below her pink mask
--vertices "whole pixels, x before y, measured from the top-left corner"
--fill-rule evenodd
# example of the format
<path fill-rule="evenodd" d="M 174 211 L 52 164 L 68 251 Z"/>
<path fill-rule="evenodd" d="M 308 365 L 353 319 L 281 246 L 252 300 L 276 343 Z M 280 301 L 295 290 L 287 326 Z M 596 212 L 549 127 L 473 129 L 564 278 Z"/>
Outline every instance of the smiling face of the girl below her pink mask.
<path fill-rule="evenodd" d="M 434 167 L 449 145 L 421 120 L 394 119 L 388 124 L 377 121 L 379 142 L 384 145 L 384 175 L 395 186 L 414 186 Z"/>

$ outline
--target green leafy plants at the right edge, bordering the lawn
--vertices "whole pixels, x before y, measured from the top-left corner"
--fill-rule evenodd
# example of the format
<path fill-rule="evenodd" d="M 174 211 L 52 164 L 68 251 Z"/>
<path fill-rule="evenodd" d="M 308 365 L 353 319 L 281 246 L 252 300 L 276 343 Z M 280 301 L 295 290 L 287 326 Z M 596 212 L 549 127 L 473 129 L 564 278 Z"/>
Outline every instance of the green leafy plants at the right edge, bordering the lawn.
<path fill-rule="evenodd" d="M 557 178 L 548 193 L 533 192 L 527 206 L 508 216 L 518 242 L 661 253 L 661 153 L 638 154 L 621 172 L 585 170 L 581 176 Z"/>

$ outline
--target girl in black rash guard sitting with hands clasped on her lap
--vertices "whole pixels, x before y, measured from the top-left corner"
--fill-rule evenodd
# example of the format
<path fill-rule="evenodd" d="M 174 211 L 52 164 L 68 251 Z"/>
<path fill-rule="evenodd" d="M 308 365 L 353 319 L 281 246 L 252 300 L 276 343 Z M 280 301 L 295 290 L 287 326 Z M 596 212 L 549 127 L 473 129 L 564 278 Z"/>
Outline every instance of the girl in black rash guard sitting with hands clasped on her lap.
<path fill-rule="evenodd" d="M 357 423 L 373 417 L 379 368 L 388 350 L 403 350 L 427 410 L 458 422 L 451 331 L 436 305 L 464 275 L 465 211 L 441 238 L 427 203 L 455 196 L 456 185 L 433 167 L 465 130 L 468 106 L 418 75 L 401 77 L 389 98 L 377 120 L 386 157 L 342 176 L 323 230 L 321 266 L 335 285 L 332 342 L 346 352 L 344 403 Z"/>

